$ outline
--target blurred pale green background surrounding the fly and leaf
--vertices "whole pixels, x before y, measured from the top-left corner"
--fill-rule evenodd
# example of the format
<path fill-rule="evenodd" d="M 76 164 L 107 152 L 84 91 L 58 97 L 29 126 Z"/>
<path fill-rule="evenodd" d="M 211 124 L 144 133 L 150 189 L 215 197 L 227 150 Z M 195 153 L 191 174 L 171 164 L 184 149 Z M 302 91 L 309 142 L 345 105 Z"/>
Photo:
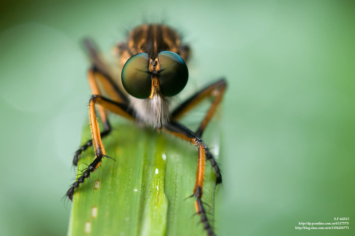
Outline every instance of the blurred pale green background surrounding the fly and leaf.
<path fill-rule="evenodd" d="M 2 0 L 0 235 L 66 235 L 60 199 L 90 98 L 79 42 L 110 56 L 144 19 L 191 44 L 190 91 L 228 80 L 217 234 L 354 235 L 354 12 L 352 0 Z M 295 230 L 334 217 L 350 230 Z"/>

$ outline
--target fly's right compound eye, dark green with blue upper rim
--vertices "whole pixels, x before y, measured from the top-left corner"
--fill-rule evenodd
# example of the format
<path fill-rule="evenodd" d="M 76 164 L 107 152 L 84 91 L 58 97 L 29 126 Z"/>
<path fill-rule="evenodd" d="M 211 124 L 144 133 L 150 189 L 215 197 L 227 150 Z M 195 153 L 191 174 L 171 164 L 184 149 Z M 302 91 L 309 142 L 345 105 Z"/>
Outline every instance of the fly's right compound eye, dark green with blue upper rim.
<path fill-rule="evenodd" d="M 182 58 L 171 51 L 158 54 L 160 65 L 159 85 L 162 93 L 171 97 L 177 95 L 186 85 L 188 70 Z"/>

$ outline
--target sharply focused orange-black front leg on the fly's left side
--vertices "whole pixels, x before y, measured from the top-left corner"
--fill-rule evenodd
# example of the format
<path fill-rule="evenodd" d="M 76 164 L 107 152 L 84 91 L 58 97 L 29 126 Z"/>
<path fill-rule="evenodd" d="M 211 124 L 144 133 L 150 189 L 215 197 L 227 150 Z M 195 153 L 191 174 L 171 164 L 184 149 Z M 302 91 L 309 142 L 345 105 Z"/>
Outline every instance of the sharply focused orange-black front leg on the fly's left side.
<path fill-rule="evenodd" d="M 79 187 L 79 184 L 83 183 L 86 178 L 88 178 L 91 172 L 95 171 L 101 165 L 102 158 L 106 156 L 104 146 L 101 141 L 99 123 L 97 121 L 95 113 L 95 105 L 101 105 L 104 109 L 110 110 L 118 115 L 126 118 L 135 119 L 133 116 L 133 111 L 128 108 L 127 104 L 118 103 L 107 99 L 100 95 L 92 95 L 89 102 L 89 120 L 92 133 L 92 144 L 95 149 L 95 158 L 93 162 L 85 169 L 83 174 L 71 185 L 66 196 L 72 200 L 74 195 L 74 190 Z M 111 158 L 111 157 L 108 157 Z"/>

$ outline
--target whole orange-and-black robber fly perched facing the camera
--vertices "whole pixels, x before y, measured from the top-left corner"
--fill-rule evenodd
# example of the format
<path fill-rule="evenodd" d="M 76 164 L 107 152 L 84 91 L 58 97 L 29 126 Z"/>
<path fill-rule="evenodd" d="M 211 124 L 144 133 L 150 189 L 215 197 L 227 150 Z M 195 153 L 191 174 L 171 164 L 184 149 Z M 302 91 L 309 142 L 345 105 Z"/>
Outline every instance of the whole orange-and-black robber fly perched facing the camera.
<path fill-rule="evenodd" d="M 73 164 L 77 165 L 82 152 L 91 146 L 94 148 L 95 158 L 71 185 L 66 197 L 72 200 L 75 190 L 99 168 L 103 158 L 111 158 L 106 155 L 101 141 L 101 138 L 109 135 L 112 130 L 107 117 L 107 112 L 110 111 L 158 131 L 170 132 L 196 145 L 198 165 L 191 197 L 195 197 L 196 213 L 200 215 L 207 234 L 215 235 L 201 199 L 206 160 L 210 161 L 216 174 L 216 184 L 222 182 L 222 177 L 215 158 L 201 136 L 222 100 L 226 81 L 220 79 L 205 86 L 171 109 L 170 99 L 180 93 L 187 84 L 188 69 L 185 61 L 190 54 L 189 46 L 181 43 L 179 34 L 173 29 L 160 24 L 144 24 L 132 30 L 126 42 L 116 45 L 115 49 L 122 65 L 121 81 L 124 89 L 110 76 L 94 44 L 88 39 L 84 44 L 92 61 L 92 67 L 88 71 L 92 90 L 89 101 L 92 139 L 76 151 Z M 197 130 L 192 131 L 178 121 L 205 99 L 212 99 L 212 103 Z M 96 110 L 104 124 L 104 130 L 101 132 Z"/>

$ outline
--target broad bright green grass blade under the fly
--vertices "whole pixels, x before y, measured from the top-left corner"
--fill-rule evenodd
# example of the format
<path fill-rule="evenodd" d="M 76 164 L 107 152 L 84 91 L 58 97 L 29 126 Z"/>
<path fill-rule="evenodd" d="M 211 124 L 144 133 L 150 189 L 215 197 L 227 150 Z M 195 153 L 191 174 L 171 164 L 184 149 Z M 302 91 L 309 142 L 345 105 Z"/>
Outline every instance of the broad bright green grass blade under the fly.
<path fill-rule="evenodd" d="M 209 136 L 215 140 L 205 140 L 219 147 L 220 131 L 213 127 L 210 130 L 217 133 Z M 89 128 L 83 137 L 90 137 Z M 75 191 L 69 236 L 206 236 L 200 217 L 193 216 L 194 198 L 186 199 L 195 183 L 194 145 L 127 122 L 115 124 L 104 145 L 116 161 L 105 158 L 91 180 Z M 92 149 L 83 154 L 78 174 L 92 156 Z M 209 167 L 204 184 L 203 200 L 213 214 L 215 174 Z"/>

